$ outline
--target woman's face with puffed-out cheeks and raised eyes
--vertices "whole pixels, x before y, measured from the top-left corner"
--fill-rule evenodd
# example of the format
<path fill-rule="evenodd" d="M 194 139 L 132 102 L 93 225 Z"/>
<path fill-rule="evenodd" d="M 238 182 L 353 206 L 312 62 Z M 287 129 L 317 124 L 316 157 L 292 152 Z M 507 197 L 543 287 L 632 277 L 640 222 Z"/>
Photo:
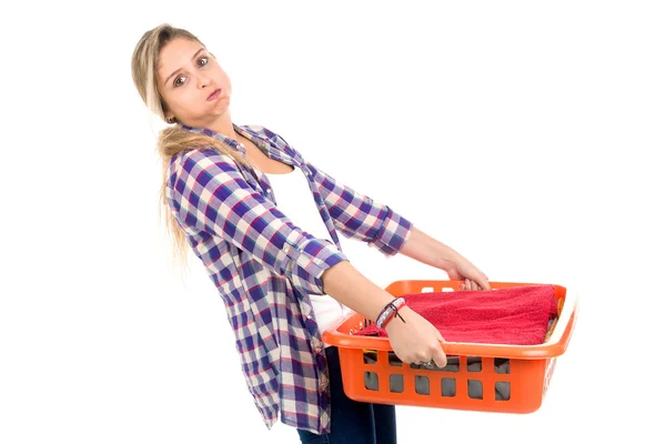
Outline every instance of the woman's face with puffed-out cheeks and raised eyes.
<path fill-rule="evenodd" d="M 160 52 L 158 79 L 168 119 L 206 128 L 229 112 L 231 81 L 196 41 L 176 38 L 167 43 Z"/>

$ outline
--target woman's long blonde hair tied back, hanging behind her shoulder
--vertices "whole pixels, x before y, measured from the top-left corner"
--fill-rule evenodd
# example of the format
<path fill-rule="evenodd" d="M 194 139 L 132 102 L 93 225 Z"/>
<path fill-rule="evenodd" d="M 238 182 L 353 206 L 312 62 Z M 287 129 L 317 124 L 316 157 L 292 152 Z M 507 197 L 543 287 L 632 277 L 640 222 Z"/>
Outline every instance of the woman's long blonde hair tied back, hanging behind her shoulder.
<path fill-rule="evenodd" d="M 174 28 L 163 23 L 154 29 L 147 31 L 134 48 L 132 53 L 132 79 L 139 91 L 139 95 L 150 111 L 167 122 L 167 103 L 158 89 L 158 61 L 160 51 L 170 41 L 174 39 L 188 39 L 205 46 L 192 33 L 184 29 Z M 168 122 L 172 123 L 172 122 Z M 157 151 L 162 161 L 162 185 L 160 189 L 160 215 L 162 212 L 167 215 L 165 229 L 172 241 L 172 253 L 176 263 L 186 265 L 188 244 L 185 233 L 178 225 L 173 212 L 170 211 L 167 202 L 167 182 L 169 180 L 169 165 L 173 155 L 193 148 L 212 148 L 221 154 L 231 155 L 238 162 L 250 165 L 241 154 L 233 148 L 219 139 L 206 134 L 194 133 L 181 129 L 179 125 L 171 125 L 160 131 L 157 141 Z"/>

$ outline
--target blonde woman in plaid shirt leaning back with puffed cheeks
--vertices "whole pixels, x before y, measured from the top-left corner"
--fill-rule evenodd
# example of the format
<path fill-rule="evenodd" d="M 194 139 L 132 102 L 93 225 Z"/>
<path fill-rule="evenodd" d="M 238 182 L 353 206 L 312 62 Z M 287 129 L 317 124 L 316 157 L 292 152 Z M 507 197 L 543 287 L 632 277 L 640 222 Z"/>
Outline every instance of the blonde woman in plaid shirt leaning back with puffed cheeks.
<path fill-rule="evenodd" d="M 150 110 L 172 123 L 158 150 L 175 249 L 183 258 L 189 243 L 224 300 L 266 426 L 280 417 L 310 443 L 395 442 L 394 406 L 349 400 L 337 351 L 321 333 L 344 306 L 370 320 L 398 313 L 384 325 L 397 357 L 438 366 L 446 363 L 444 339 L 354 269 L 337 232 L 386 256 L 400 252 L 440 268 L 464 280 L 462 290 L 490 290 L 487 276 L 389 206 L 336 182 L 279 134 L 232 123 L 231 81 L 192 33 L 169 24 L 147 31 L 132 77 Z M 305 195 L 284 191 L 287 181 Z"/>

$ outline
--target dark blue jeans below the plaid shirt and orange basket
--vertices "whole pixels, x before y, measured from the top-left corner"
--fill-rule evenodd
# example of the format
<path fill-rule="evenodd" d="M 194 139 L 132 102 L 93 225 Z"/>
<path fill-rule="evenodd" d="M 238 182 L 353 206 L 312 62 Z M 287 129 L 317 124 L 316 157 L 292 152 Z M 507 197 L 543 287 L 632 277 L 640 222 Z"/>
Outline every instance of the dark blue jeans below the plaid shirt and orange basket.
<path fill-rule="evenodd" d="M 395 406 L 350 400 L 342 389 L 337 347 L 326 347 L 331 379 L 331 433 L 297 430 L 301 443 L 396 444 Z"/>

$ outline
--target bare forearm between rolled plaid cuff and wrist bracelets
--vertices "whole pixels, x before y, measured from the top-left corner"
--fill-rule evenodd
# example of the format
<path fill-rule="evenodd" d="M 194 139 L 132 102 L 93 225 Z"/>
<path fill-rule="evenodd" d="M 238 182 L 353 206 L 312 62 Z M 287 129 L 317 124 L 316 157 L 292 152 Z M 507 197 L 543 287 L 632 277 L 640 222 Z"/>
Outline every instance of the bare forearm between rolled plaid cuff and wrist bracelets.
<path fill-rule="evenodd" d="M 324 293 L 354 312 L 374 321 L 395 297 L 365 278 L 349 261 L 342 261 L 322 275 Z"/>

